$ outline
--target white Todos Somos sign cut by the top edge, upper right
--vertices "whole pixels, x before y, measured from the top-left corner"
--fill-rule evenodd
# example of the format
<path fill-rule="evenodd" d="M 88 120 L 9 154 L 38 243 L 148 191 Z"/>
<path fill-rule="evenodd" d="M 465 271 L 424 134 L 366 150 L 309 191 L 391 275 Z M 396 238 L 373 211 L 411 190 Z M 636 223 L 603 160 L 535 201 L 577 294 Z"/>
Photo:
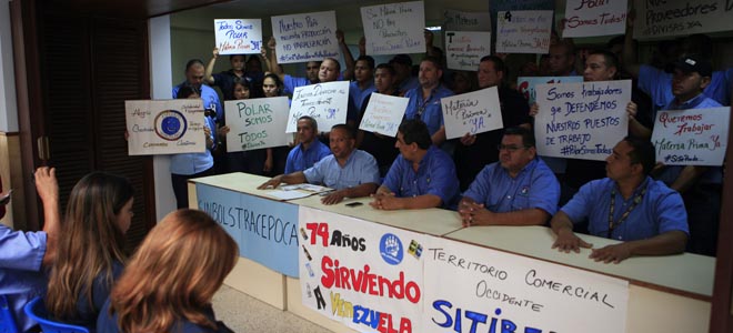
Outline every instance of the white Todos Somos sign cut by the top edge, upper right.
<path fill-rule="evenodd" d="M 568 0 L 563 38 L 624 33 L 626 1 Z"/>

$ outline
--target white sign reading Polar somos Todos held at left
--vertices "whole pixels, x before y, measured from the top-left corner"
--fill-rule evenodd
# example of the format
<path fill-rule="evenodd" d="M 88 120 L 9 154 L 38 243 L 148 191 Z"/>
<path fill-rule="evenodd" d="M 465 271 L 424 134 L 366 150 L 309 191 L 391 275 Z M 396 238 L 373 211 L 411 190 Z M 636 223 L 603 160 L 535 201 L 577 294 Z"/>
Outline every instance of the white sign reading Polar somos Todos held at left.
<path fill-rule="evenodd" d="M 288 144 L 288 98 L 265 98 L 224 102 L 227 151 L 247 151 Z"/>

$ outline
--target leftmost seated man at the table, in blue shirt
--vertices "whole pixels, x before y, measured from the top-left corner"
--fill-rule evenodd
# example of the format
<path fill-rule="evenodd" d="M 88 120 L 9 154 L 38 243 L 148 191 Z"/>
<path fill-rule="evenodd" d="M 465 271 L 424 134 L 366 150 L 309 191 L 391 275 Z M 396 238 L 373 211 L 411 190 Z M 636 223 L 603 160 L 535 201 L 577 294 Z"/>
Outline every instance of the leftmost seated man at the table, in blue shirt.
<path fill-rule="evenodd" d="M 317 140 L 318 122 L 315 119 L 303 115 L 298 119 L 298 145 L 288 153 L 285 174 L 303 171 L 313 167 L 315 162 L 331 154 L 329 148 Z"/>

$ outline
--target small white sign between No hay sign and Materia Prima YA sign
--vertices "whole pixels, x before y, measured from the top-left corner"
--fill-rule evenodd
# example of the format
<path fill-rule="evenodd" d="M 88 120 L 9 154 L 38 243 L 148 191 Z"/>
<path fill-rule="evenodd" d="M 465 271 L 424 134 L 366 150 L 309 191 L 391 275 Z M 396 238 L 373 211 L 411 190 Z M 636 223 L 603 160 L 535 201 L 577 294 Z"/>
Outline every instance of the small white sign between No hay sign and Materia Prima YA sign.
<path fill-rule="evenodd" d="M 491 32 L 445 31 L 445 53 L 448 68 L 475 71 L 481 58 L 491 54 Z"/>

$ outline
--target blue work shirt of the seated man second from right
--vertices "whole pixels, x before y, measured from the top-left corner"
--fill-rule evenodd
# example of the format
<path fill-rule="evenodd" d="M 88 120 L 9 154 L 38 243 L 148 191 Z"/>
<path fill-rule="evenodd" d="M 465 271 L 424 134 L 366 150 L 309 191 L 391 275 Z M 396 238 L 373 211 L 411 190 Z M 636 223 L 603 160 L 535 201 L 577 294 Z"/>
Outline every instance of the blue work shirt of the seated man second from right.
<path fill-rule="evenodd" d="M 541 209 L 558 212 L 560 183 L 550 167 L 539 158 L 530 161 L 515 178 L 500 162 L 483 168 L 463 193 L 494 213 Z"/>

